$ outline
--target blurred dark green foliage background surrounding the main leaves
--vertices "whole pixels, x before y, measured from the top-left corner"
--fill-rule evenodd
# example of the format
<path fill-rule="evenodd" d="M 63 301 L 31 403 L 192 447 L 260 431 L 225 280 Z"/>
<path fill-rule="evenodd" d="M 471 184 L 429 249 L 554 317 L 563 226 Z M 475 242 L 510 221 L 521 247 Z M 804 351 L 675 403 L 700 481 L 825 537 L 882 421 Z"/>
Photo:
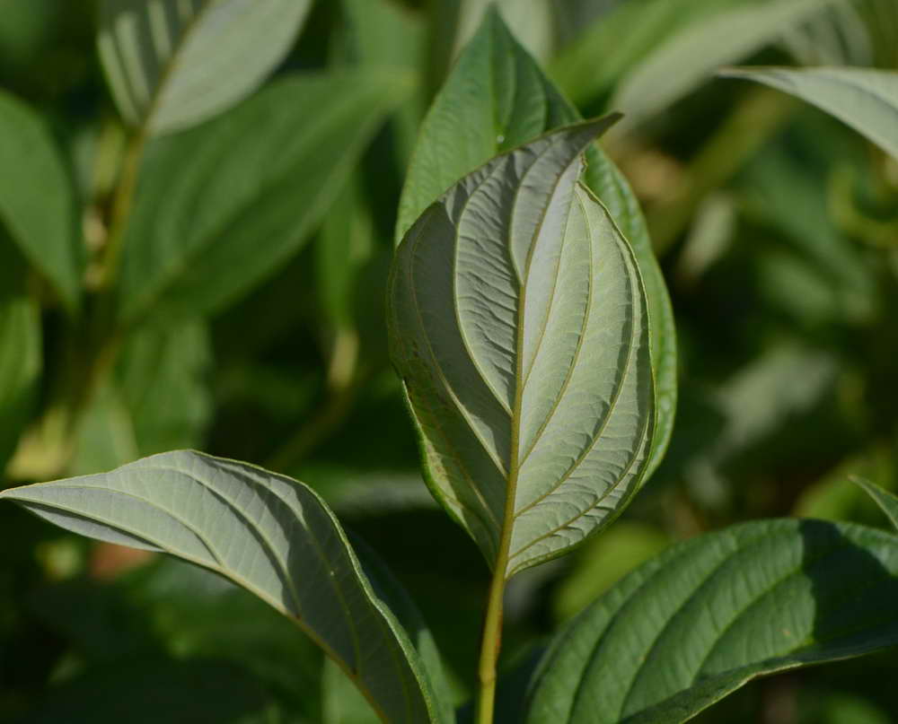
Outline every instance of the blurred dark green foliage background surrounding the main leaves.
<path fill-rule="evenodd" d="M 497 3 L 581 112 L 627 114 L 603 145 L 647 214 L 680 350 L 664 464 L 606 534 L 511 582 L 507 671 L 676 540 L 777 516 L 884 522 L 847 481 L 898 490 L 898 163 L 785 94 L 713 76 L 734 64 L 898 69 L 898 0 L 802 2 Z M 0 409 L 4 486 L 185 447 L 294 475 L 409 589 L 460 705 L 488 571 L 421 483 L 383 297 L 418 124 L 486 4 L 313 4 L 277 74 L 371 65 L 409 74 L 413 88 L 302 249 L 215 315 L 139 327 L 71 440 L 54 437 L 52 411 L 66 350 L 84 340 L 46 283 L 13 264 L 0 229 L 4 289 L 24 285 L 40 304 L 44 369 L 24 424 Z M 126 138 L 95 16 L 85 0 L 0 0 L 0 84 L 46 119 L 87 253 Z M 23 353 L 0 349 L 0 363 Z M 0 530 L 0 721 L 371 721 L 301 632 L 242 590 L 11 505 Z M 889 652 L 775 676 L 699 720 L 898 721 L 896 674 Z"/>

